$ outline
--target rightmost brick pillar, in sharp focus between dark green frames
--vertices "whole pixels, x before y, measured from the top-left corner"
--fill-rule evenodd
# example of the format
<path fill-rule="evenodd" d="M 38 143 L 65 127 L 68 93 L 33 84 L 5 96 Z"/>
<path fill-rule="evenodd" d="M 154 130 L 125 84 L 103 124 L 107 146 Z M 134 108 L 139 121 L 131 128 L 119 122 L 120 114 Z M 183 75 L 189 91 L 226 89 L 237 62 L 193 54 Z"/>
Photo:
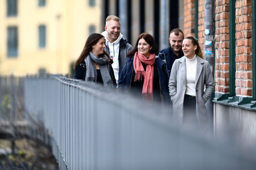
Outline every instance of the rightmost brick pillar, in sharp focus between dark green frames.
<path fill-rule="evenodd" d="M 252 1 L 236 1 L 236 95 L 252 96 Z"/>

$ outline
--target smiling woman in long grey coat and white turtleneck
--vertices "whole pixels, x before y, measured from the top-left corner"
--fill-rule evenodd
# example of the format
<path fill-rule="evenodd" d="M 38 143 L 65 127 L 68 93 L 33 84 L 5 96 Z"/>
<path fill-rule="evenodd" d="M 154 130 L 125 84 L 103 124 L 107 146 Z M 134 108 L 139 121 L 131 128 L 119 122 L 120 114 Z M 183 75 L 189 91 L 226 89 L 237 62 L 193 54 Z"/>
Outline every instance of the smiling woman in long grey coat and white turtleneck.
<path fill-rule="evenodd" d="M 173 116 L 179 123 L 195 124 L 205 131 L 208 125 L 205 103 L 214 88 L 212 71 L 208 61 L 202 59 L 197 39 L 186 37 L 182 51 L 184 56 L 174 61 L 169 80 Z"/>

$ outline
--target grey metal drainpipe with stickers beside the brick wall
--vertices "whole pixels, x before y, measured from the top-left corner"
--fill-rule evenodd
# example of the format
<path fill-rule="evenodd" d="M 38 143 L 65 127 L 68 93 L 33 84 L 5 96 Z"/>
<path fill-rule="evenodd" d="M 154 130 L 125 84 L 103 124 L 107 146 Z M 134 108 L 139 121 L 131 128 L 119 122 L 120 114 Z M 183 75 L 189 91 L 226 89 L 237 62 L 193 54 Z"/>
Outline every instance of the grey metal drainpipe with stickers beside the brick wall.
<path fill-rule="evenodd" d="M 214 3 L 213 0 L 205 0 L 204 1 L 204 58 L 210 64 L 212 74 L 214 75 L 214 25 L 213 25 L 213 17 L 214 17 Z M 209 117 L 208 127 L 209 130 L 213 129 L 213 94 L 210 99 L 205 103 L 207 107 L 207 113 Z"/>

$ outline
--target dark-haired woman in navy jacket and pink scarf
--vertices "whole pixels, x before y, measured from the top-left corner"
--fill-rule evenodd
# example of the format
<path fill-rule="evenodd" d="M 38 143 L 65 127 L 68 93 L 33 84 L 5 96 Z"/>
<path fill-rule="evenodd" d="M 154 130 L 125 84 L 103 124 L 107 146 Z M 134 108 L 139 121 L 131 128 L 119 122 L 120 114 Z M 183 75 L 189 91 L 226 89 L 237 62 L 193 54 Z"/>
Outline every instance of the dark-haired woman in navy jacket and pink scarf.
<path fill-rule="evenodd" d="M 158 47 L 148 33 L 139 35 L 135 47 L 127 54 L 118 86 L 129 89 L 147 101 L 170 101 L 168 73 L 163 60 L 155 54 Z"/>

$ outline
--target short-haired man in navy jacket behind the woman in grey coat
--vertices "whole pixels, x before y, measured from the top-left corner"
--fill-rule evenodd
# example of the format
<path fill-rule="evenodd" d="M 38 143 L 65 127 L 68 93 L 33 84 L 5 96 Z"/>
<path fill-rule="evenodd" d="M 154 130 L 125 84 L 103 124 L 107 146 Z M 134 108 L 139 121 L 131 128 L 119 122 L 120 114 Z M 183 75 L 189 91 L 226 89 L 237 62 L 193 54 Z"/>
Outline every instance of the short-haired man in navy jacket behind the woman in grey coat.
<path fill-rule="evenodd" d="M 184 39 L 184 34 L 181 29 L 175 28 L 170 33 L 170 44 L 171 46 L 159 51 L 158 57 L 166 62 L 167 72 L 170 76 L 172 65 L 176 59 L 184 56 L 182 51 L 182 41 Z"/>

